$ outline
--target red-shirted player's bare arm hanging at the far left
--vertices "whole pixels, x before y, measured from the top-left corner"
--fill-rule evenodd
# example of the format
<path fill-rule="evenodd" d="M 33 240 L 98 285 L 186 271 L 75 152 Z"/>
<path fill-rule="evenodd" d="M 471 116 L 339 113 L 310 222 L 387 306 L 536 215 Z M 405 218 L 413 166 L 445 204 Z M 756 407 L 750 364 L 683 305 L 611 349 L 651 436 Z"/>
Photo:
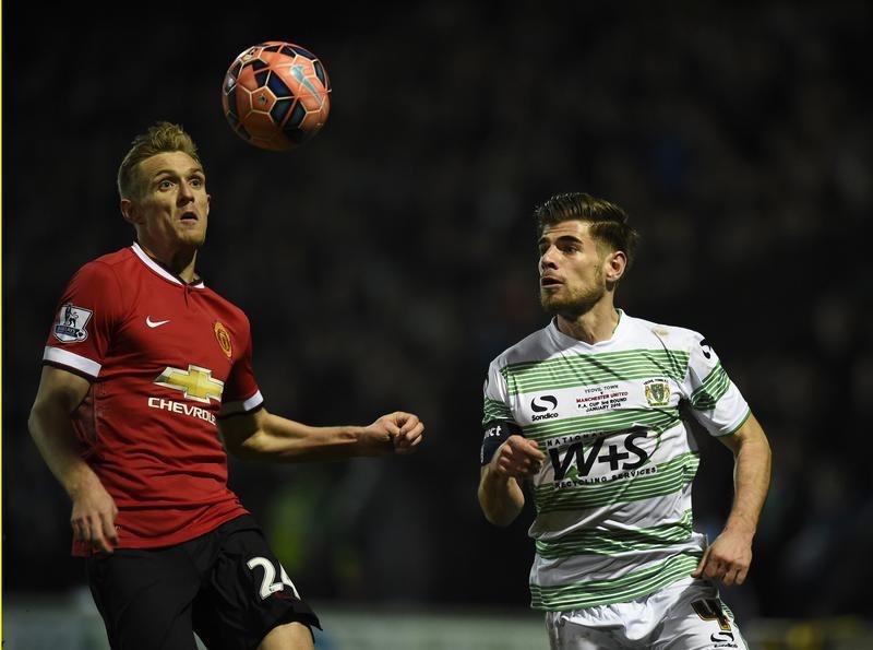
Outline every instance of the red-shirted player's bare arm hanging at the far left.
<path fill-rule="evenodd" d="M 88 392 L 91 382 L 60 368 L 45 366 L 27 426 L 51 473 L 73 503 L 73 536 L 99 551 L 118 543 L 118 516 L 112 497 L 83 460 L 70 415 Z"/>

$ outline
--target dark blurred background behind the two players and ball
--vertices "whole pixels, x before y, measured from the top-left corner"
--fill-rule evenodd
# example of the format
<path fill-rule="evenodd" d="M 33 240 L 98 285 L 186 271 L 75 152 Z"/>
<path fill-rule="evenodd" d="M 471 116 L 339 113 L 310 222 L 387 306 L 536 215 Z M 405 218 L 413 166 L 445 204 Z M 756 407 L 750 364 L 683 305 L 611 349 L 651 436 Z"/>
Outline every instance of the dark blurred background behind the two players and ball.
<path fill-rule="evenodd" d="M 703 332 L 772 438 L 748 616 L 873 614 L 871 10 L 864 2 L 3 5 L 3 589 L 84 582 L 69 501 L 26 430 L 56 300 L 133 233 L 115 175 L 158 119 L 200 144 L 200 270 L 253 323 L 271 411 L 414 411 L 409 458 L 267 466 L 234 487 L 312 599 L 528 602 L 530 521 L 476 501 L 488 362 L 542 327 L 533 208 L 561 191 L 643 233 L 618 303 Z M 267 39 L 315 52 L 324 129 L 286 154 L 224 120 Z M 731 498 L 701 437 L 698 527 Z M 868 596 L 868 598 L 863 598 Z"/>

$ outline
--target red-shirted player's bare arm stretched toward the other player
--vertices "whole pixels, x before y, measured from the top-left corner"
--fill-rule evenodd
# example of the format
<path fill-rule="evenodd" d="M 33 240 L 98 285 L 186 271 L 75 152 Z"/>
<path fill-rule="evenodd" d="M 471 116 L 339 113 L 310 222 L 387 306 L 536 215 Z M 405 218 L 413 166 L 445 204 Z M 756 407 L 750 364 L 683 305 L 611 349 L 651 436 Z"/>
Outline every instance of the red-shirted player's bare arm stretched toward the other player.
<path fill-rule="evenodd" d="M 395 411 L 369 426 L 309 426 L 260 409 L 219 421 L 228 452 L 246 460 L 304 462 L 406 454 L 423 440 L 417 415 Z"/>

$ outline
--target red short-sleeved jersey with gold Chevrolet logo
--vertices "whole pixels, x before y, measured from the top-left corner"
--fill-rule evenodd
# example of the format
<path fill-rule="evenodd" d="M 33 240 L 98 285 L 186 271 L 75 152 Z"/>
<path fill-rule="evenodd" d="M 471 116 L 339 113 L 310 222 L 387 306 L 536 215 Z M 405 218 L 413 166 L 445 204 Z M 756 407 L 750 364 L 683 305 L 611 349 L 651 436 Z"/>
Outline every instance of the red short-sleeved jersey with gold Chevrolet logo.
<path fill-rule="evenodd" d="M 178 544 L 247 512 L 216 416 L 263 402 L 251 356 L 241 309 L 136 244 L 72 277 L 43 361 L 92 380 L 73 426 L 118 506 L 120 547 Z"/>

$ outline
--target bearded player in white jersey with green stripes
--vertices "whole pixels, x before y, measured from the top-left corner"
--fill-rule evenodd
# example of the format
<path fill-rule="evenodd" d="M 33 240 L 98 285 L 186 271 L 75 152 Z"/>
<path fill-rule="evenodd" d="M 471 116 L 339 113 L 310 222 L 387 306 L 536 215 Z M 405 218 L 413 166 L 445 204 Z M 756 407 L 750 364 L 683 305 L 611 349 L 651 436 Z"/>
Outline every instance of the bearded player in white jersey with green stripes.
<path fill-rule="evenodd" d="M 565 193 L 535 215 L 553 318 L 489 367 L 482 511 L 507 525 L 533 497 L 530 604 L 553 650 L 745 649 L 718 582 L 749 571 L 766 435 L 706 339 L 615 307 L 638 240 L 621 208 Z M 733 506 L 711 544 L 694 530 L 687 416 L 734 457 Z"/>

